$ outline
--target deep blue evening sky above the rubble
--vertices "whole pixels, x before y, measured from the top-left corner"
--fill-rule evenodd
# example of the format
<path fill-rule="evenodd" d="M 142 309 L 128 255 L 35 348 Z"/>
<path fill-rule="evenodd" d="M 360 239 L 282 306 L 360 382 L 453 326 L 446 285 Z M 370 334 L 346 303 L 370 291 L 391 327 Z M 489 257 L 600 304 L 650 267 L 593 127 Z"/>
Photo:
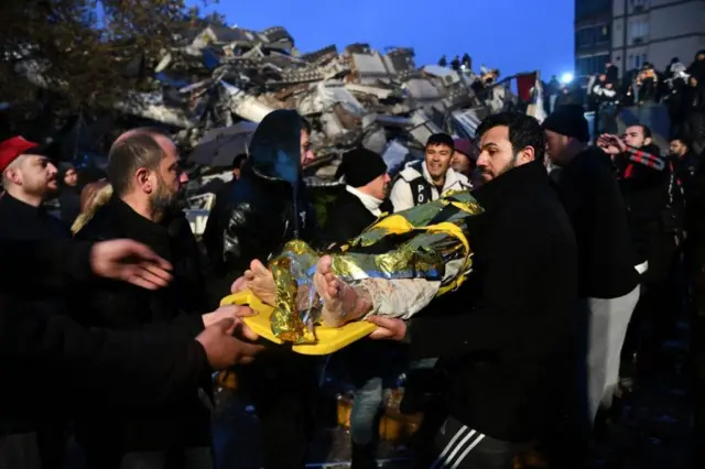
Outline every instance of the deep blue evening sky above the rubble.
<path fill-rule="evenodd" d="M 503 76 L 573 70 L 573 0 L 220 0 L 214 9 L 241 28 L 284 26 L 302 52 L 366 42 L 411 46 L 416 65 L 467 52 L 476 70 Z"/>

